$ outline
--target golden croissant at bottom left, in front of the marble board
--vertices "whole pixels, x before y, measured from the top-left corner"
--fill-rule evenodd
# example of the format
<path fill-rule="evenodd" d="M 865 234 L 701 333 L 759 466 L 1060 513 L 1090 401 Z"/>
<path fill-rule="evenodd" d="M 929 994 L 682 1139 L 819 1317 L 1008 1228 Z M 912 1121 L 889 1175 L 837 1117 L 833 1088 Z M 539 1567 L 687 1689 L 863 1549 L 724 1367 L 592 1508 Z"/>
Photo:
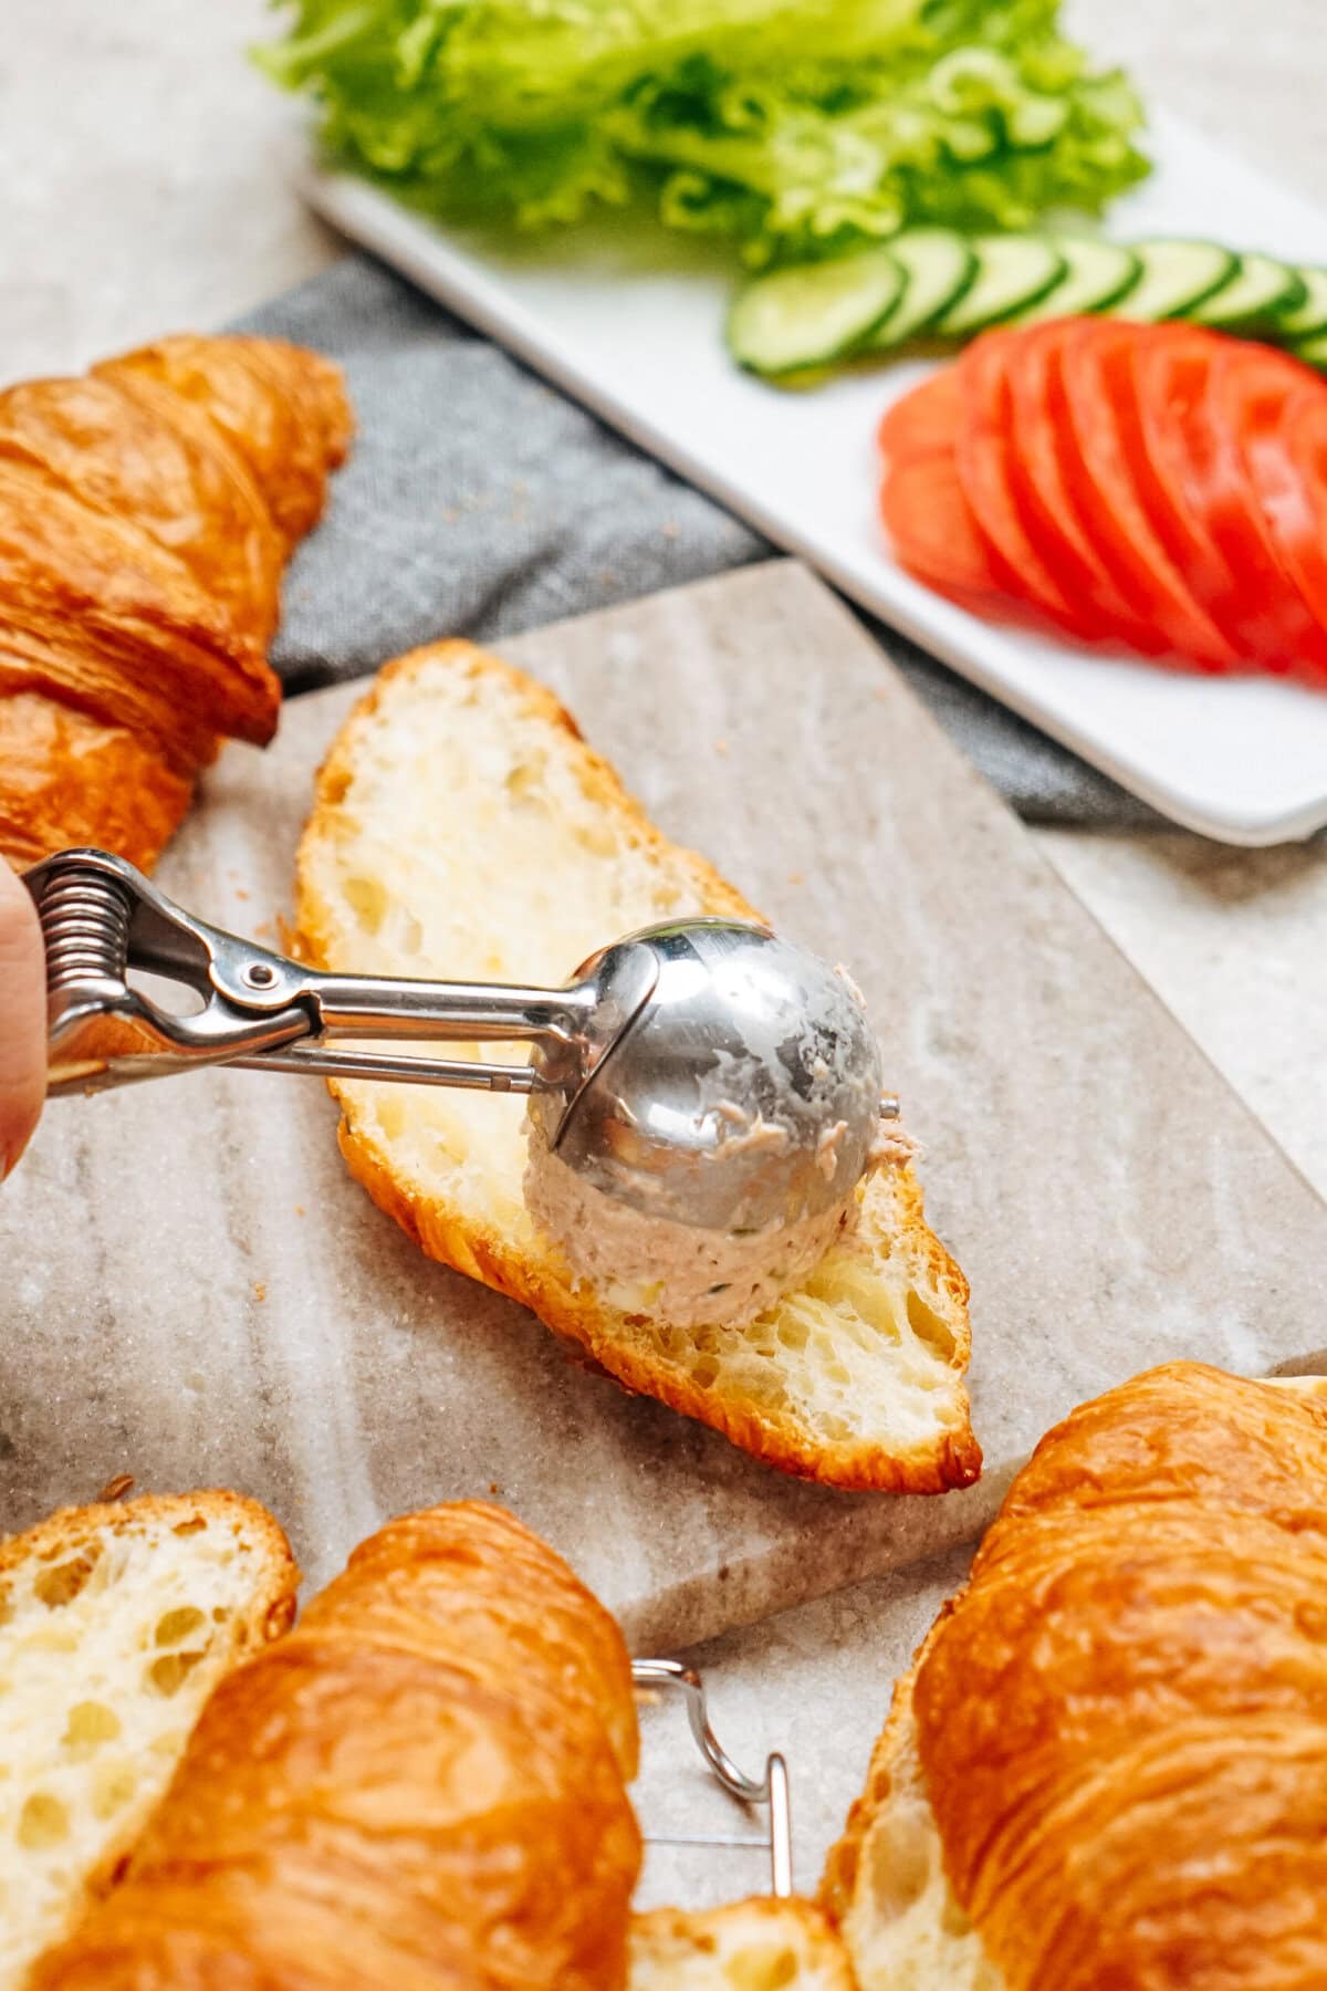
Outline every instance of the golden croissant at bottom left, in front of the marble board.
<path fill-rule="evenodd" d="M 621 1991 L 635 1760 L 621 1633 L 551 1549 L 394 1521 L 215 1690 L 30 1991 Z"/>

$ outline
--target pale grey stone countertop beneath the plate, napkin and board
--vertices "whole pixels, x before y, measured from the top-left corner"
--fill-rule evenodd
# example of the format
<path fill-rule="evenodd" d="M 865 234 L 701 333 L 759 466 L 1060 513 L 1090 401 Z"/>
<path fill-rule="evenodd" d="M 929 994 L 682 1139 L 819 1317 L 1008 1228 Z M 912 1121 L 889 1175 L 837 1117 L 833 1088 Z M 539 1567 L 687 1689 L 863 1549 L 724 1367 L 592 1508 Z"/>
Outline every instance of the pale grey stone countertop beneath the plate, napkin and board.
<path fill-rule="evenodd" d="M 1156 0 L 1068 0 L 1068 18 L 1152 100 L 1319 191 L 1321 0 L 1212 0 L 1180 18 Z M 239 58 L 271 30 L 263 0 L 8 0 L 6 30 L 0 378 L 221 323 L 340 253 L 273 173 L 288 108 Z M 1327 842 L 1239 852 L 1182 832 L 1072 830 L 1041 842 L 1327 1193 L 1327 1013 L 1315 1001 Z M 804 1883 L 861 1780 L 889 1680 L 959 1573 L 951 1561 L 863 1585 L 704 1655 L 716 1726 L 738 1760 L 790 1750 Z M 647 1732 L 655 1746 L 672 1754 Z M 762 1883 L 742 1856 L 676 1860 L 676 1872 L 655 1862 L 653 1897 Z"/>

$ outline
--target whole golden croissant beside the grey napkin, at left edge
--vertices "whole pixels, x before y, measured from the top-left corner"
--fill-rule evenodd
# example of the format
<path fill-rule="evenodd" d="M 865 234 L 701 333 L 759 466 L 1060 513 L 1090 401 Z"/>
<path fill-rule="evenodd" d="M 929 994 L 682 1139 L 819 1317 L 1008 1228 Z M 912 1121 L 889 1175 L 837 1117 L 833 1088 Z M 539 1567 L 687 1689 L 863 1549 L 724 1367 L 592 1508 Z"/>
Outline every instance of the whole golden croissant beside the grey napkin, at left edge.
<path fill-rule="evenodd" d="M 277 338 L 0 394 L 0 852 L 151 866 L 219 739 L 273 737 L 281 571 L 348 438 L 338 370 Z"/>

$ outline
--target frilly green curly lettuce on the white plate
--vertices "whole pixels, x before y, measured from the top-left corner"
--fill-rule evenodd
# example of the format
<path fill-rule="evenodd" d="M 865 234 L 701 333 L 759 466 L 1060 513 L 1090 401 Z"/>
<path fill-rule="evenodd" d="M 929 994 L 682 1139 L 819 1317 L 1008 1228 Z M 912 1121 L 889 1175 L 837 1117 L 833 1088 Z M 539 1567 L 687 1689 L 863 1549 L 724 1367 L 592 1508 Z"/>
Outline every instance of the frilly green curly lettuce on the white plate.
<path fill-rule="evenodd" d="M 649 203 L 748 263 L 1098 213 L 1140 104 L 1058 0 L 283 0 L 330 155 L 454 219 Z"/>

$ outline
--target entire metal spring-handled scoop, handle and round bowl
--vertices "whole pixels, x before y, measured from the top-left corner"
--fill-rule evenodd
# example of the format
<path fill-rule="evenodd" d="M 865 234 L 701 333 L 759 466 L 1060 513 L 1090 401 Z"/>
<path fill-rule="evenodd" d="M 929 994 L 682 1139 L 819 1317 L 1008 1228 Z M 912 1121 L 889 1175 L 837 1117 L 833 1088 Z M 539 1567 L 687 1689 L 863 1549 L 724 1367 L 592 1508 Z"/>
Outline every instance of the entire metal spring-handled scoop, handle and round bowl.
<path fill-rule="evenodd" d="M 46 858 L 26 884 L 46 936 L 52 1093 L 201 1065 L 529 1093 L 535 1129 L 591 1187 L 730 1232 L 842 1203 L 881 1113 L 897 1113 L 848 978 L 742 920 L 647 928 L 541 990 L 314 974 L 195 920 L 103 850 Z M 187 1013 L 143 976 L 175 984 Z M 346 1037 L 509 1039 L 529 1061 Z"/>

